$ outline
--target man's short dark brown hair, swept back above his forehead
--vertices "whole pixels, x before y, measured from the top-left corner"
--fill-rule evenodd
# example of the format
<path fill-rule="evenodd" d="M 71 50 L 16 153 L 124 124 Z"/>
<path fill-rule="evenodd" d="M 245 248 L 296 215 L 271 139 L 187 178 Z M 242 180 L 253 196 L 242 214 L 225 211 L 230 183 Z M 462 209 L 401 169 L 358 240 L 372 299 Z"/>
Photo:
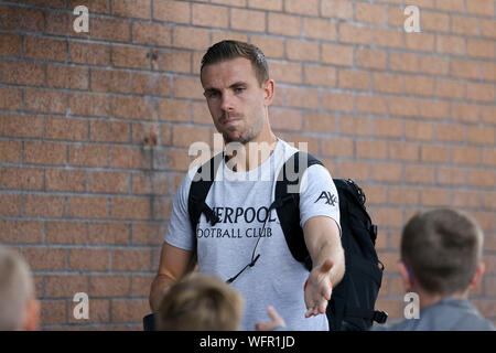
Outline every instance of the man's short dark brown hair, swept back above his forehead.
<path fill-rule="evenodd" d="M 269 66 L 266 55 L 254 44 L 238 41 L 222 41 L 212 45 L 202 58 L 202 68 L 224 61 L 245 57 L 251 62 L 257 81 L 261 86 L 269 79 Z"/>

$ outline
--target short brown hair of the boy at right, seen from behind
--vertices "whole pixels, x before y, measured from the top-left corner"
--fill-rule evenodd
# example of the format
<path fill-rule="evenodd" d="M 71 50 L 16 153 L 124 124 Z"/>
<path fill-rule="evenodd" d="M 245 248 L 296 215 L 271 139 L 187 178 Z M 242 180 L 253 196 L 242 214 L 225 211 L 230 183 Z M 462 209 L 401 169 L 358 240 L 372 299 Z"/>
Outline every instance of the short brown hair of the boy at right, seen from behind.
<path fill-rule="evenodd" d="M 452 208 L 418 213 L 401 235 L 401 258 L 430 293 L 465 291 L 482 258 L 484 234 L 470 215 Z"/>

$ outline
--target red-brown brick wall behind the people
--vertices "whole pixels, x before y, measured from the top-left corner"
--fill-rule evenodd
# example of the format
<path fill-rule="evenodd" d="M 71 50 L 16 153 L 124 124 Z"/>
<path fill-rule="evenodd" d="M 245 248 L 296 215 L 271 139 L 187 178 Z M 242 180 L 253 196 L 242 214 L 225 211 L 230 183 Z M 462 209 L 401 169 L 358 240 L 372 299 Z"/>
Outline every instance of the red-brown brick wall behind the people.
<path fill-rule="evenodd" d="M 89 34 L 73 9 L 90 10 Z M 421 33 L 406 33 L 407 4 Z M 30 263 L 43 329 L 141 329 L 187 147 L 212 143 L 198 81 L 222 39 L 259 45 L 271 122 L 365 189 L 402 315 L 402 224 L 467 210 L 486 231 L 472 299 L 496 320 L 493 0 L 0 1 L 0 243 Z M 143 140 L 157 137 L 148 148 Z M 73 317 L 76 292 L 89 320 Z"/>

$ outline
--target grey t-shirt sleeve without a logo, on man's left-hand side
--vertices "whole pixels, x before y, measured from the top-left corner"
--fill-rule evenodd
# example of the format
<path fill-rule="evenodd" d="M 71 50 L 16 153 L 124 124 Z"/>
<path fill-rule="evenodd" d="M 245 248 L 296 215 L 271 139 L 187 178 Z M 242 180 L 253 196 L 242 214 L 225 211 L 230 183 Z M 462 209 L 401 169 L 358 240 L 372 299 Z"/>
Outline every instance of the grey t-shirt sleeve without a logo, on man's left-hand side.
<path fill-rule="evenodd" d="M 186 173 L 172 204 L 171 218 L 165 235 L 168 244 L 184 250 L 193 250 L 195 240 L 187 210 L 191 182 L 191 178 Z"/>

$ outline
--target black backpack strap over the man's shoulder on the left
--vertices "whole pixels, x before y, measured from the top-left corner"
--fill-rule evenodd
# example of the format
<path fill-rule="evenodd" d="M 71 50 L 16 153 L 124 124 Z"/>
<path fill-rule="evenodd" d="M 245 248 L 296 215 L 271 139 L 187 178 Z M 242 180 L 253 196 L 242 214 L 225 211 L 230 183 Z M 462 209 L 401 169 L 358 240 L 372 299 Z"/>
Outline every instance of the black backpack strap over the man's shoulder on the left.
<path fill-rule="evenodd" d="M 200 167 L 191 182 L 190 194 L 187 196 L 187 210 L 193 233 L 196 233 L 196 226 L 198 225 L 202 213 L 205 214 L 212 225 L 219 222 L 214 211 L 205 203 L 205 200 L 214 183 L 215 174 L 223 158 L 224 153 L 218 153 Z"/>

